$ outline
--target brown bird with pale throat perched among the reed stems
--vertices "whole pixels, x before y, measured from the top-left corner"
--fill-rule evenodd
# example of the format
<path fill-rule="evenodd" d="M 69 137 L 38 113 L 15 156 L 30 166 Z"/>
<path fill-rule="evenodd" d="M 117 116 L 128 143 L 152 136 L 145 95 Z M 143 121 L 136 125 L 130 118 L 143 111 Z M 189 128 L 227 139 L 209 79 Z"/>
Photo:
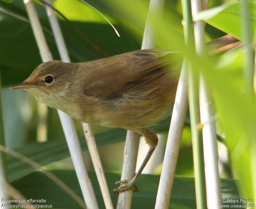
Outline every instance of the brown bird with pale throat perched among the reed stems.
<path fill-rule="evenodd" d="M 242 42 L 227 35 L 208 44 L 209 53 L 228 50 Z M 119 127 L 144 135 L 148 153 L 132 180 L 123 180 L 115 193 L 133 189 L 153 153 L 158 138 L 147 127 L 170 115 L 180 64 L 177 53 L 160 49 L 137 50 L 109 58 L 39 65 L 23 83 L 37 100 L 85 123 Z"/>

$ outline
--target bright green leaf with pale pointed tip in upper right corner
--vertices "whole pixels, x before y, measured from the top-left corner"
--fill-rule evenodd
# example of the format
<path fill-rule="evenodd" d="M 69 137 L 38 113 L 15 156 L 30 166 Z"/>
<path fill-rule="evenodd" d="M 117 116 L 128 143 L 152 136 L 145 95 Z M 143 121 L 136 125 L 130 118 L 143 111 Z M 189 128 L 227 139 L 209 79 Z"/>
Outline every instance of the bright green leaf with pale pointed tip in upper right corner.
<path fill-rule="evenodd" d="M 252 1 L 248 1 L 248 3 L 251 34 L 253 38 L 256 27 L 256 3 Z M 224 31 L 239 40 L 243 40 L 243 27 L 241 20 L 242 4 L 243 2 L 239 1 L 233 4 L 220 5 L 218 7 L 199 12 L 193 20 L 204 20 L 213 27 Z"/>

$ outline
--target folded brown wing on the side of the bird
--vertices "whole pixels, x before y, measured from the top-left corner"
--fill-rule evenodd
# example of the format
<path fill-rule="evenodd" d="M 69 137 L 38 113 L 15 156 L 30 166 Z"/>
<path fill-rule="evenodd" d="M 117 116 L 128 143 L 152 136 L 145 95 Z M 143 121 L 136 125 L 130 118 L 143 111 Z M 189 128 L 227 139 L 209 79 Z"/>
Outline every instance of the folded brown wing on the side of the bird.
<path fill-rule="evenodd" d="M 93 70 L 86 77 L 84 94 L 102 100 L 121 97 L 176 66 L 176 54 L 158 49 L 137 50 L 87 62 Z"/>

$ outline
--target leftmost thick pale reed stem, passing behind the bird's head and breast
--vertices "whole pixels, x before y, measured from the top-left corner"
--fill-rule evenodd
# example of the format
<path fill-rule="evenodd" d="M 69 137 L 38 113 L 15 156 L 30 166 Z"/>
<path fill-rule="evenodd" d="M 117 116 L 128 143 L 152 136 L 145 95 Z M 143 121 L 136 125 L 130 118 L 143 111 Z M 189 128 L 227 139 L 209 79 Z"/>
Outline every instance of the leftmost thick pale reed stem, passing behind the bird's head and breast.
<path fill-rule="evenodd" d="M 36 38 L 36 43 L 38 45 L 42 60 L 44 62 L 50 61 L 52 60 L 52 55 L 46 43 L 43 30 L 39 22 L 39 18 L 38 18 L 35 6 L 33 4 L 33 1 L 24 0 L 24 4 L 28 12 L 28 16 L 31 22 L 31 26 Z M 89 176 L 86 170 L 84 156 L 82 153 L 81 146 L 79 144 L 78 136 L 76 134 L 74 122 L 72 118 L 69 117 L 64 112 L 58 110 L 58 113 L 60 116 L 61 125 L 64 130 L 64 134 L 68 143 L 68 148 L 69 148 L 71 158 L 76 170 L 76 175 L 78 177 L 78 181 L 84 196 L 86 206 L 88 208 L 97 209 L 99 207 L 98 207 L 96 197 L 92 188 L 92 182 L 89 179 Z"/>

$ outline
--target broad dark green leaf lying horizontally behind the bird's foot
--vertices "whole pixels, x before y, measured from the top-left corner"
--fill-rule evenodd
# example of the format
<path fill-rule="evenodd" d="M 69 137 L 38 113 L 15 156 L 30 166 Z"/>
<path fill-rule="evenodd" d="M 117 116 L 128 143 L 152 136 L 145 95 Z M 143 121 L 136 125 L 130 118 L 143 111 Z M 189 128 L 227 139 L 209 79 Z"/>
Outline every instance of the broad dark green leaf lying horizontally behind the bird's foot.
<path fill-rule="evenodd" d="M 69 170 L 53 170 L 55 175 L 62 179 L 73 189 L 76 194 L 81 195 L 77 177 L 74 171 Z M 99 208 L 105 208 L 101 196 L 100 188 L 94 172 L 89 172 L 93 189 L 98 200 Z M 153 209 L 156 202 L 156 192 L 158 188 L 159 175 L 141 175 L 137 186 L 139 192 L 134 192 L 132 197 L 131 208 L 147 208 Z M 120 174 L 106 173 L 106 179 L 110 190 L 114 207 L 117 198 L 113 189 L 116 188 L 115 182 L 120 180 Z M 68 197 L 60 188 L 58 188 L 51 180 L 40 172 L 34 172 L 28 176 L 12 182 L 12 185 L 18 189 L 26 198 L 45 199 L 46 204 L 52 204 L 53 208 L 71 209 L 79 208 L 73 199 Z M 195 183 L 194 178 L 175 177 L 172 189 L 170 209 L 196 209 L 195 201 Z M 221 180 L 222 198 L 239 198 L 236 185 L 232 179 Z"/>

